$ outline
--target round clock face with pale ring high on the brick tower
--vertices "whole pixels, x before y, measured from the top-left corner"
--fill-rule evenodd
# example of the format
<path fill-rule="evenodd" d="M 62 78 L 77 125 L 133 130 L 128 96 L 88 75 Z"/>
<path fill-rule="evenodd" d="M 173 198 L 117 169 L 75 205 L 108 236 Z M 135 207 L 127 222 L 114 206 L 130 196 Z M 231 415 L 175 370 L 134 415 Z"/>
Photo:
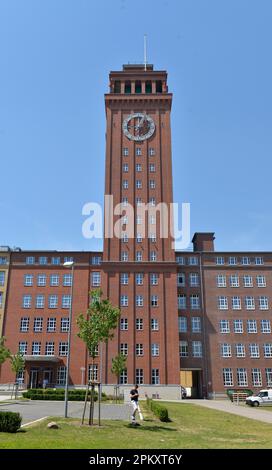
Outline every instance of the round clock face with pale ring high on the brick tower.
<path fill-rule="evenodd" d="M 130 114 L 124 119 L 122 127 L 125 136 L 136 142 L 149 139 L 155 132 L 153 119 L 144 113 Z"/>

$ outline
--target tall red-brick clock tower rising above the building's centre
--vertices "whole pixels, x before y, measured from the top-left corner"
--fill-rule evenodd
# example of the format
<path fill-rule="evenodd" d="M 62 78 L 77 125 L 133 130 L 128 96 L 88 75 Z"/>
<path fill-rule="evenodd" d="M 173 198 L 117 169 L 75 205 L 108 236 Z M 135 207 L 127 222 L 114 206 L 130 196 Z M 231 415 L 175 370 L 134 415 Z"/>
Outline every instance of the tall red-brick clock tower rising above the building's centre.
<path fill-rule="evenodd" d="M 103 380 L 115 382 L 111 361 L 122 352 L 127 355 L 123 383 L 177 385 L 177 267 L 170 232 L 161 236 L 161 223 L 170 229 L 166 212 L 173 198 L 172 94 L 167 73 L 152 65 L 124 65 L 109 79 L 105 194 L 112 196 L 113 208 L 120 204 L 114 223 L 124 218 L 122 232 L 104 239 L 103 291 L 120 305 L 121 319 L 104 355 Z M 155 210 L 161 203 L 167 208 L 163 216 Z M 146 204 L 150 212 L 143 211 Z"/>

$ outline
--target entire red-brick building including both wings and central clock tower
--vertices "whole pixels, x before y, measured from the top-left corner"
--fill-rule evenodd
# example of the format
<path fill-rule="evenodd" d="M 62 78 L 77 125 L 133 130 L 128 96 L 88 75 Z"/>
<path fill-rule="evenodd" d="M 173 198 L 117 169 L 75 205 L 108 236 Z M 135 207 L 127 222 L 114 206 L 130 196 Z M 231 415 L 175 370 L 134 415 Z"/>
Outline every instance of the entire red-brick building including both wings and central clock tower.
<path fill-rule="evenodd" d="M 193 251 L 174 251 L 171 235 L 161 236 L 161 222 L 171 233 L 165 214 L 173 202 L 167 73 L 126 65 L 109 80 L 105 194 L 120 204 L 113 223 L 125 214 L 122 223 L 117 230 L 108 224 L 103 253 L 11 250 L 0 265 L 3 335 L 12 352 L 25 355 L 22 381 L 64 385 L 72 273 L 63 263 L 73 260 L 71 385 L 94 377 L 112 389 L 111 361 L 122 352 L 122 385 L 136 381 L 161 397 L 180 398 L 180 385 L 199 397 L 271 386 L 272 253 L 215 252 L 213 233 L 196 233 Z M 166 210 L 160 215 L 159 204 Z M 97 287 L 120 306 L 121 318 L 93 368 L 76 317 Z M 13 380 L 6 363 L 0 383 Z"/>

